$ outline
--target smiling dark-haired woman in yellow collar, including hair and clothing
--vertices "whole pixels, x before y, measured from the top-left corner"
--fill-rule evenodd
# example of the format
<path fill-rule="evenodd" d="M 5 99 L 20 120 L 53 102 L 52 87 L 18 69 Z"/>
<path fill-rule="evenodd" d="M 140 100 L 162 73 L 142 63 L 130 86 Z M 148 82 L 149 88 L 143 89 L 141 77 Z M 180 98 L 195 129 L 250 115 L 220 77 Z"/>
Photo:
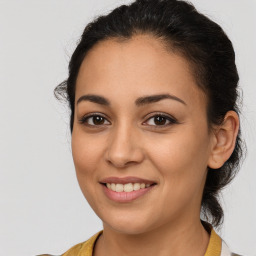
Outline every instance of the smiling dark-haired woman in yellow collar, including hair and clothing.
<path fill-rule="evenodd" d="M 63 256 L 232 255 L 213 227 L 242 154 L 238 79 L 230 40 L 187 2 L 137 0 L 85 28 L 55 93 L 103 231 Z"/>

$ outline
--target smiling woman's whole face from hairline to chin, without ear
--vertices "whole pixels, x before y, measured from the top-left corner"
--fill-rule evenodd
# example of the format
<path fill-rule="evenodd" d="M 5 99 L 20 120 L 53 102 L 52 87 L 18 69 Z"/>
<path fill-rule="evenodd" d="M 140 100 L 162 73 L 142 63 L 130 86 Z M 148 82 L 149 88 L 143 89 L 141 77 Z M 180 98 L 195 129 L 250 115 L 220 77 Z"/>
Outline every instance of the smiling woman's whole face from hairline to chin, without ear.
<path fill-rule="evenodd" d="M 77 78 L 72 152 L 105 227 L 139 234 L 198 220 L 212 137 L 186 59 L 147 35 L 89 51 Z"/>

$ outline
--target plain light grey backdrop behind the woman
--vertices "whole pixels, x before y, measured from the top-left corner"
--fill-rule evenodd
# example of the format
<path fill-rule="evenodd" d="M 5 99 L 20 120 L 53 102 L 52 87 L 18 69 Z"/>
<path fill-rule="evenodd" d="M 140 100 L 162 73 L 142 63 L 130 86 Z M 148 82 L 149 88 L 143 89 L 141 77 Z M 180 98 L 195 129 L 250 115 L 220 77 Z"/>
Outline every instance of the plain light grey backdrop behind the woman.
<path fill-rule="evenodd" d="M 85 25 L 129 1 L 0 0 L 0 255 L 61 254 L 102 228 L 80 192 L 68 108 L 53 96 Z M 233 42 L 247 158 L 223 191 L 220 235 L 256 255 L 256 1 L 191 0 Z"/>

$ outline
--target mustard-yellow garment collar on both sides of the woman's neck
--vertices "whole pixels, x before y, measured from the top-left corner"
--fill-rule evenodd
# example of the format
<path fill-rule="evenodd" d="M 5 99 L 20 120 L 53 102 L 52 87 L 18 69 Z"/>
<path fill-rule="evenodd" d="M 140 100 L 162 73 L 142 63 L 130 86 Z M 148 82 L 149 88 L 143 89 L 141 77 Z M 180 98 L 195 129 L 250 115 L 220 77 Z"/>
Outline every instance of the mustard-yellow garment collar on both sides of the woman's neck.
<path fill-rule="evenodd" d="M 84 243 L 75 245 L 61 256 L 92 256 L 94 244 L 102 232 L 103 231 L 98 232 Z M 220 256 L 221 243 L 221 238 L 212 229 L 210 241 L 204 256 Z"/>

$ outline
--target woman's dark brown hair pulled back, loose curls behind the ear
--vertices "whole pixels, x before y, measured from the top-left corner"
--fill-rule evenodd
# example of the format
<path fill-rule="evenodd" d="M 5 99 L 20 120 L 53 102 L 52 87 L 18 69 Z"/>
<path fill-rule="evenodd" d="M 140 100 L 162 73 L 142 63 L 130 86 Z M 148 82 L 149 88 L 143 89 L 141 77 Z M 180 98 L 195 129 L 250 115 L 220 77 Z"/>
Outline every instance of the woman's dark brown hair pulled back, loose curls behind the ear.
<path fill-rule="evenodd" d="M 69 76 L 55 89 L 56 97 L 64 97 L 69 103 L 71 133 L 76 79 L 86 54 L 99 41 L 111 38 L 129 40 L 135 34 L 150 34 L 160 39 L 169 50 L 182 54 L 190 62 L 197 84 L 208 99 L 207 117 L 210 127 L 221 124 L 229 110 L 239 114 L 239 77 L 235 53 L 222 28 L 185 1 L 137 0 L 98 17 L 84 29 L 69 63 Z M 214 226 L 219 226 L 223 221 L 219 192 L 235 176 L 241 158 L 239 130 L 230 158 L 221 168 L 208 169 L 201 213 Z"/>

